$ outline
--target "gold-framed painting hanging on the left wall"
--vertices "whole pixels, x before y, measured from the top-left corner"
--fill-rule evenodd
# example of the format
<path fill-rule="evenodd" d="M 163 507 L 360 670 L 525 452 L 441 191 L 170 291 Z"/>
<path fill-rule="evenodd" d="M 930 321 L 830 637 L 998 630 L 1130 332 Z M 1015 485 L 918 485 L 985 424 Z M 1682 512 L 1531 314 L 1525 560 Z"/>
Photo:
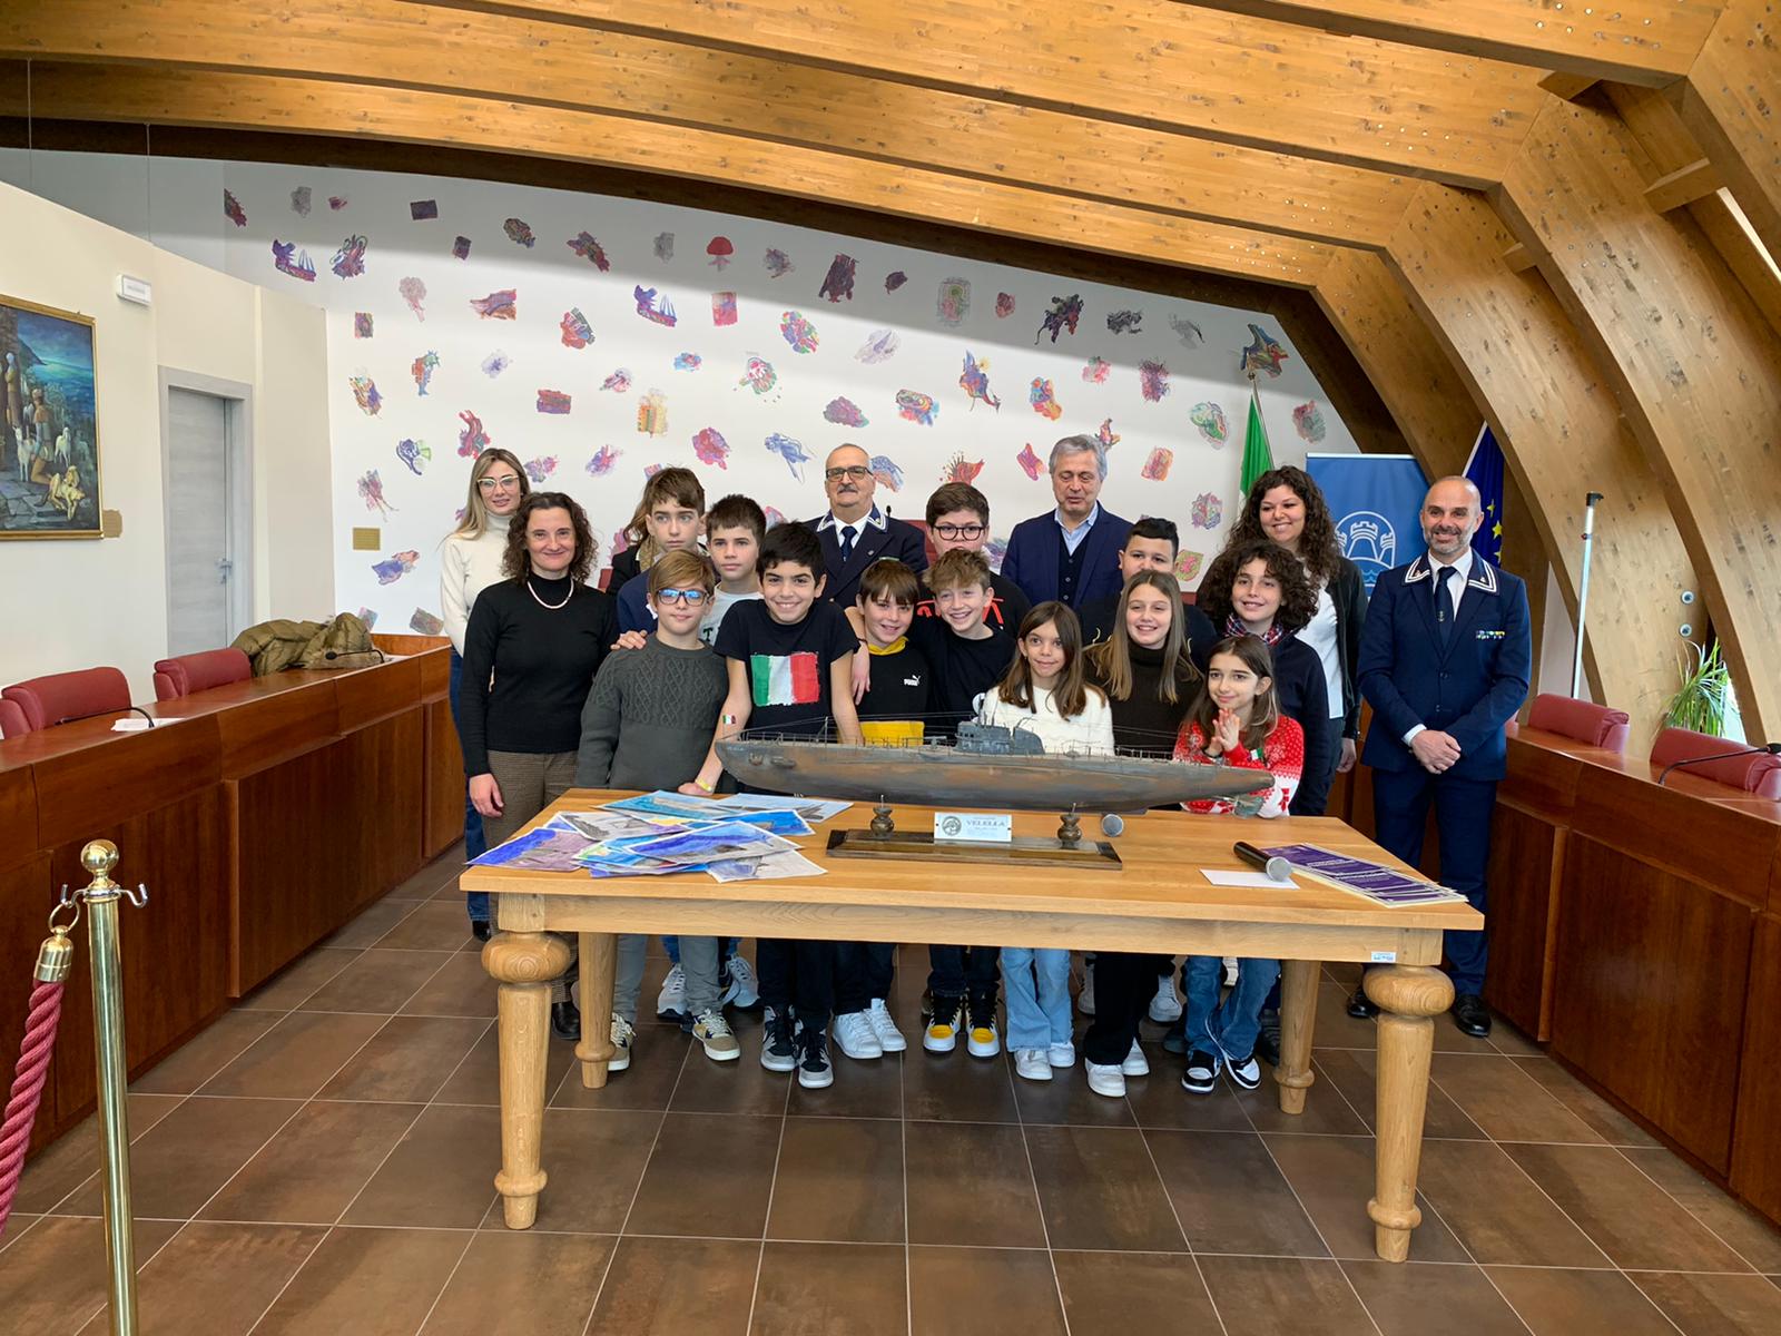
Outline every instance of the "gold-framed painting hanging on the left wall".
<path fill-rule="evenodd" d="M 0 540 L 100 536 L 93 328 L 0 296 Z"/>

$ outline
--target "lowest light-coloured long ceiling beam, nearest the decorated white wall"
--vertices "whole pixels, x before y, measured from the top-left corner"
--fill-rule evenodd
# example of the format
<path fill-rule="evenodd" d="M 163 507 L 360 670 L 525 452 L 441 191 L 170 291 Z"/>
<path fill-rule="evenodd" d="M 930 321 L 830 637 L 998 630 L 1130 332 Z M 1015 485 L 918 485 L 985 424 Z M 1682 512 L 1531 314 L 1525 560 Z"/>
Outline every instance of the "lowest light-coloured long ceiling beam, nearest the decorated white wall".
<path fill-rule="evenodd" d="M 598 112 L 495 103 L 442 93 L 100 64 L 34 64 L 32 103 L 66 119 L 128 119 L 292 134 L 367 135 L 670 173 L 803 200 L 841 200 L 1186 269 L 1311 287 L 1330 248 L 1220 223 L 1088 205 L 1042 191 L 894 167 L 739 135 Z M 20 80 L 0 84 L 0 114 L 25 114 Z"/>

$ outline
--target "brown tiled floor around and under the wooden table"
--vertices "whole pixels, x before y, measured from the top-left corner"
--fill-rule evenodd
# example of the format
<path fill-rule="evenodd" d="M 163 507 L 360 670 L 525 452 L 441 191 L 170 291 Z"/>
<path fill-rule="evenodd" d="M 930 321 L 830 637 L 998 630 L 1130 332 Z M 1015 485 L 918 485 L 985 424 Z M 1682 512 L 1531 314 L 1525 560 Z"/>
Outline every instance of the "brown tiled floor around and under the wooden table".
<path fill-rule="evenodd" d="M 805 1092 L 647 1021 L 584 1090 L 552 1044 L 538 1226 L 509 1233 L 495 989 L 442 860 L 135 1083 L 142 1331 L 1781 1332 L 1781 1231 L 1539 1049 L 1439 1021 L 1416 1261 L 1373 1259 L 1371 1022 L 1327 976 L 1304 1117 L 1179 1058 L 1126 1101 L 1081 1069 L 915 1049 Z M 645 1012 L 664 958 L 645 976 Z M 25 1174 L 0 1329 L 103 1332 L 91 1128 Z"/>

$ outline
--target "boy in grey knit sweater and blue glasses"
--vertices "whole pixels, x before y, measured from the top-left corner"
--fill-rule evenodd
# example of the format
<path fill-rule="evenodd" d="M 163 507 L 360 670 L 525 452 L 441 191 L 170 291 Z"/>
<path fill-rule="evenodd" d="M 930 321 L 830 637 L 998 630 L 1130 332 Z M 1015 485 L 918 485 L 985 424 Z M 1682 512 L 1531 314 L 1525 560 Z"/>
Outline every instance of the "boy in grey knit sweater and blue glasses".
<path fill-rule="evenodd" d="M 698 552 L 668 552 L 650 566 L 655 632 L 643 648 L 600 664 L 581 713 L 577 789 L 677 789 L 698 775 L 728 691 L 723 659 L 698 638 L 714 588 L 711 563 Z M 609 1072 L 630 1065 L 645 941 L 618 939 Z M 682 937 L 680 967 L 693 1037 L 707 1058 L 734 1062 L 741 1049 L 720 1005 L 718 939 Z"/>

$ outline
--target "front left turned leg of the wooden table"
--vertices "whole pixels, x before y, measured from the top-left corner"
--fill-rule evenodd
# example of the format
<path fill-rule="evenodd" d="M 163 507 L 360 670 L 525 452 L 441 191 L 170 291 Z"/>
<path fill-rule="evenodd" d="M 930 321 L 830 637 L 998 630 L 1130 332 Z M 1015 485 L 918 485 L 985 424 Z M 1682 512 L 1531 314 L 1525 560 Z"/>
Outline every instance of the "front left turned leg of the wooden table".
<path fill-rule="evenodd" d="M 568 969 L 568 944 L 541 932 L 499 932 L 483 948 L 483 969 L 499 983 L 500 1028 L 500 1172 L 508 1229 L 531 1229 L 545 1124 L 545 1065 L 550 1044 L 550 980 Z"/>

